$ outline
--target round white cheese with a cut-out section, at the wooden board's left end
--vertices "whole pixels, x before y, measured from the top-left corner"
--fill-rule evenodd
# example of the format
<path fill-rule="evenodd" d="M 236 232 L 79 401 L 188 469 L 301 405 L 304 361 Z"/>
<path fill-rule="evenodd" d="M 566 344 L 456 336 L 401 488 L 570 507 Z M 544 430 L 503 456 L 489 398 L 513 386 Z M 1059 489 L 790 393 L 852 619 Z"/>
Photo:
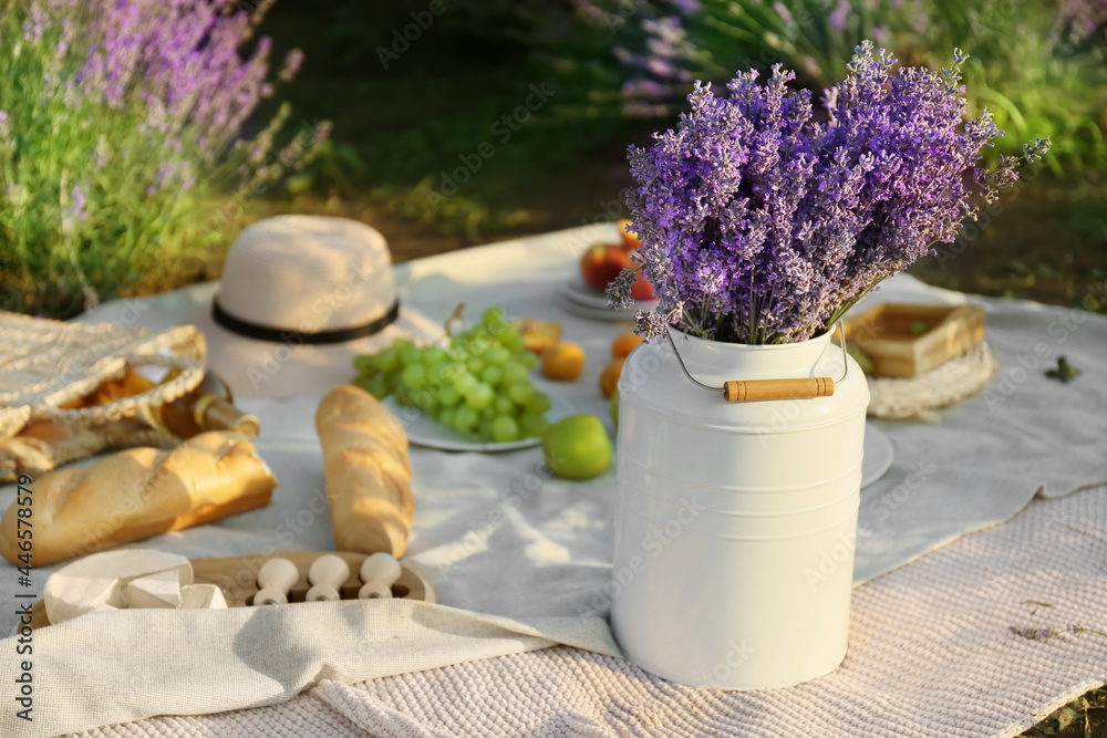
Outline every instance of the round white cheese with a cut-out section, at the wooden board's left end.
<path fill-rule="evenodd" d="M 193 583 L 185 557 L 149 549 L 94 553 L 62 567 L 46 580 L 42 593 L 51 623 L 83 615 L 100 605 L 127 606 L 127 582 L 159 571 L 176 571 L 180 584 Z"/>

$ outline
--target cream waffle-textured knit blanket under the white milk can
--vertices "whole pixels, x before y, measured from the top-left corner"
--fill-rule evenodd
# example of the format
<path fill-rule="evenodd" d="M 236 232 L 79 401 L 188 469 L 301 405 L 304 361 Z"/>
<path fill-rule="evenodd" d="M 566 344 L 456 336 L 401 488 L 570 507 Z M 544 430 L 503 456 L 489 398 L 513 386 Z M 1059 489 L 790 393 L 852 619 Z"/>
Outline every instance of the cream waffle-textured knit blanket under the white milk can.
<path fill-rule="evenodd" d="M 1008 632 L 1069 622 L 1103 630 L 1104 561 L 1107 495 L 1035 500 L 1007 524 L 859 588 L 845 663 L 788 689 L 685 687 L 602 651 L 517 653 L 535 643 L 520 626 L 483 624 L 468 632 L 514 655 L 348 684 L 354 679 L 340 671 L 348 654 L 306 671 L 299 684 L 314 677 L 318 686 L 283 704 L 154 718 L 80 738 L 1008 738 L 1107 680 L 1107 637 L 1028 641 Z M 306 625 L 300 635 L 282 632 L 271 649 L 312 651 L 322 624 Z M 427 647 L 442 643 L 441 632 L 430 636 Z"/>

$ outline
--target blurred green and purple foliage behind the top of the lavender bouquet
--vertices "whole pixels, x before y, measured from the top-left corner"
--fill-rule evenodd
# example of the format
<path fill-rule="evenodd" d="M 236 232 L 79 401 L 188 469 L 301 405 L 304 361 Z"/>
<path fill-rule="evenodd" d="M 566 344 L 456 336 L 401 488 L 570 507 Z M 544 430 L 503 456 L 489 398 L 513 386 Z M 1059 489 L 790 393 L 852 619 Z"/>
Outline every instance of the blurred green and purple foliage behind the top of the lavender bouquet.
<path fill-rule="evenodd" d="M 1074 38 L 1056 0 L 703 0 L 683 20 L 663 12 L 642 2 L 620 31 L 620 43 L 635 50 L 623 53 L 624 90 L 641 98 L 634 112 L 671 115 L 682 105 L 674 93 L 691 77 L 725 83 L 735 71 L 774 63 L 825 89 L 862 39 L 933 69 L 959 48 L 970 54 L 970 115 L 987 106 L 1006 132 L 992 157 L 1051 136 L 1055 171 L 1107 168 L 1107 41 Z"/>

